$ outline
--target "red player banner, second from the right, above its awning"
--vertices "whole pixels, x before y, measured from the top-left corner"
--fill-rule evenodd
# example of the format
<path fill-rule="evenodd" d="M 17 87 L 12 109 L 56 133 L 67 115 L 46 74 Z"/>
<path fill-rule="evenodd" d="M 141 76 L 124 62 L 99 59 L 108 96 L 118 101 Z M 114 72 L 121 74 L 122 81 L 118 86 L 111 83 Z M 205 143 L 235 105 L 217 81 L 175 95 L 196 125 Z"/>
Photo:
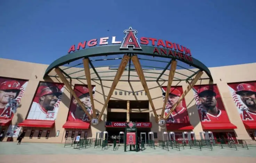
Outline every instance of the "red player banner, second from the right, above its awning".
<path fill-rule="evenodd" d="M 194 86 L 193 91 L 202 122 L 229 121 L 216 85 Z"/>

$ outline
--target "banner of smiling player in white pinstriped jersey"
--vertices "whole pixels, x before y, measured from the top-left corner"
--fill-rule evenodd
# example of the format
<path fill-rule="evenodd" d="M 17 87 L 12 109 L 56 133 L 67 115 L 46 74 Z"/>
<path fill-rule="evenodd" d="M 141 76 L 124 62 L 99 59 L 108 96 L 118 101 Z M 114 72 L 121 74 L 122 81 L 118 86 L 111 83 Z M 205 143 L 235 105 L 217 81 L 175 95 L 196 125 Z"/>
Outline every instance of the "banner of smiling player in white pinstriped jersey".
<path fill-rule="evenodd" d="M 63 91 L 63 84 L 40 82 L 27 119 L 55 120 Z"/>

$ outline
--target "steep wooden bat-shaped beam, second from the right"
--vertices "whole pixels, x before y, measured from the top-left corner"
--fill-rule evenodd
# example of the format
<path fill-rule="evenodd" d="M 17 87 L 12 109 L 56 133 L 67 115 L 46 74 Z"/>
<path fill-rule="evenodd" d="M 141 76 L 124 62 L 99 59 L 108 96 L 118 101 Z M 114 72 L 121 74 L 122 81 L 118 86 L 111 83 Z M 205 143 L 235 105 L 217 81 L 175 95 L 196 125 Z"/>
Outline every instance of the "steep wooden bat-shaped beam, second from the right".
<path fill-rule="evenodd" d="M 170 68 L 170 72 L 169 72 L 168 83 L 167 83 L 167 88 L 166 88 L 166 93 L 165 93 L 165 100 L 163 101 L 163 109 L 162 109 L 162 113 L 161 113 L 161 117 L 160 117 L 161 119 L 163 119 L 163 115 L 165 114 L 166 102 L 168 101 L 169 91 L 171 89 L 171 84 L 173 83 L 173 78 L 174 78 L 176 67 L 177 67 L 177 61 L 172 60 L 171 68 Z"/>

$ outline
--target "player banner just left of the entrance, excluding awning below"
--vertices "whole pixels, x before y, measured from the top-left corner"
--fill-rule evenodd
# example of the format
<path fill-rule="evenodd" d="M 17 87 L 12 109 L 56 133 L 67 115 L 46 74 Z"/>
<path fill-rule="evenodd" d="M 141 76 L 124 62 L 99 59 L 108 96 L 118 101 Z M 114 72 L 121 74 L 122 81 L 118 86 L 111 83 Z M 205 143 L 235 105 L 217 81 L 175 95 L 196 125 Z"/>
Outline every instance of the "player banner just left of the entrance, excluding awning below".
<path fill-rule="evenodd" d="M 91 99 L 89 95 L 89 89 L 85 85 L 76 85 L 74 88 L 75 94 L 78 96 L 79 100 L 84 104 L 86 110 L 89 114 L 93 113 L 91 108 Z M 95 86 L 93 86 L 93 97 L 95 93 Z M 89 121 L 88 116 L 83 111 L 77 100 L 73 97 L 70 105 L 70 112 L 68 121 Z"/>

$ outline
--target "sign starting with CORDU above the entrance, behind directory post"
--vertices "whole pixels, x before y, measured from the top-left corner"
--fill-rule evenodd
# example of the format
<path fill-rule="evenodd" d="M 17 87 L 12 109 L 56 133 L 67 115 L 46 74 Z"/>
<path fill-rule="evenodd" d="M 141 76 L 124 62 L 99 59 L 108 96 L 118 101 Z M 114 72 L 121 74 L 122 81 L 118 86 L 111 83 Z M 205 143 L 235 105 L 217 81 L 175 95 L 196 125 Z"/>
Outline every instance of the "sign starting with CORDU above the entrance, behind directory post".
<path fill-rule="evenodd" d="M 127 127 L 127 122 L 109 122 L 107 121 L 105 123 L 106 127 L 117 127 L 117 128 L 125 128 Z M 137 128 L 151 128 L 152 123 L 151 122 L 135 122 L 135 125 Z M 128 126 L 130 127 L 130 126 Z"/>

